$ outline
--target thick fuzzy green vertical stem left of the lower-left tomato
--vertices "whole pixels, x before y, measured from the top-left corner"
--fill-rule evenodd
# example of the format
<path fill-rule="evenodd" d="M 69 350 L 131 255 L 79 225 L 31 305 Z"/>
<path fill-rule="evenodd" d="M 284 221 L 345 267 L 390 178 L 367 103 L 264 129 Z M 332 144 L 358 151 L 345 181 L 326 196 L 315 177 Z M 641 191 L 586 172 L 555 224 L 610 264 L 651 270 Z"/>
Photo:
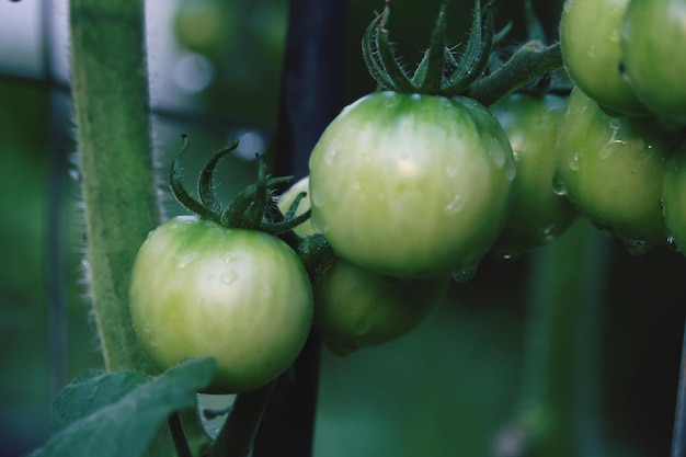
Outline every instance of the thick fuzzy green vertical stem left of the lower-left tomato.
<path fill-rule="evenodd" d="M 160 221 L 142 0 L 71 0 L 71 78 L 88 274 L 105 367 L 151 369 L 128 315 L 132 264 Z"/>

